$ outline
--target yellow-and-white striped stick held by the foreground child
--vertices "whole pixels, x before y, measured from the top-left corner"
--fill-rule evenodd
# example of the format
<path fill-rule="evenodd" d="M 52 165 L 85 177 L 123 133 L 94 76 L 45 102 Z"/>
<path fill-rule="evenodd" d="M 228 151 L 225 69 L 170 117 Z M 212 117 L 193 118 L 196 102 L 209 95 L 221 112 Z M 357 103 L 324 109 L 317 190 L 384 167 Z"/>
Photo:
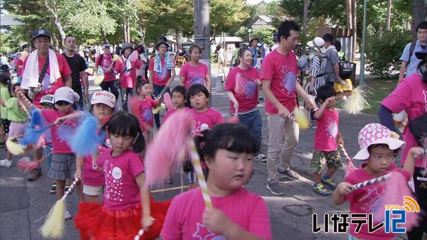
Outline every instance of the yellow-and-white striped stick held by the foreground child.
<path fill-rule="evenodd" d="M 199 179 L 199 185 L 201 188 L 201 195 L 206 207 L 212 208 L 211 196 L 209 196 L 208 185 L 206 185 L 206 180 L 203 175 L 203 170 L 201 170 L 201 163 L 199 158 L 199 153 L 196 150 L 196 144 L 194 144 L 194 138 L 191 136 L 188 142 L 189 153 L 191 156 L 191 162 L 193 162 L 194 170 L 196 170 L 197 178 Z"/>

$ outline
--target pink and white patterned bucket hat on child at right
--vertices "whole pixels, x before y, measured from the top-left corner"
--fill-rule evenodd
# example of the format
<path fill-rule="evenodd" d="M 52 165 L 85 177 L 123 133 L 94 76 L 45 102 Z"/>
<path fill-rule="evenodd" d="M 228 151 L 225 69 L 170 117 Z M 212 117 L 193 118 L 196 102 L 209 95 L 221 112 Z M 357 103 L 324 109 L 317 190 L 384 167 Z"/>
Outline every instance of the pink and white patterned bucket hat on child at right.
<path fill-rule="evenodd" d="M 354 156 L 354 159 L 367 160 L 369 158 L 368 147 L 374 144 L 386 144 L 391 150 L 403 148 L 405 142 L 400 141 L 396 136 L 399 135 L 387 129 L 386 126 L 381 124 L 367 124 L 359 131 L 360 150 Z"/>

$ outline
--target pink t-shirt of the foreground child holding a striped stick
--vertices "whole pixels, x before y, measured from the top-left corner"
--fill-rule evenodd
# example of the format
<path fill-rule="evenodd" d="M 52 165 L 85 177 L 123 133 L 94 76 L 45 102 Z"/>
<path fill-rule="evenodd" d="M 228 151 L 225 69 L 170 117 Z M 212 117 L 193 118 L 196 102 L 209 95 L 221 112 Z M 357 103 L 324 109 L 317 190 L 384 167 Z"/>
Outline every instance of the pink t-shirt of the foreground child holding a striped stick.
<path fill-rule="evenodd" d="M 211 197 L 211 200 L 216 209 L 246 231 L 263 239 L 272 239 L 267 205 L 260 196 L 240 187 L 226 197 Z M 164 240 L 224 239 L 204 226 L 204 209 L 200 187 L 174 197 L 160 236 Z"/>

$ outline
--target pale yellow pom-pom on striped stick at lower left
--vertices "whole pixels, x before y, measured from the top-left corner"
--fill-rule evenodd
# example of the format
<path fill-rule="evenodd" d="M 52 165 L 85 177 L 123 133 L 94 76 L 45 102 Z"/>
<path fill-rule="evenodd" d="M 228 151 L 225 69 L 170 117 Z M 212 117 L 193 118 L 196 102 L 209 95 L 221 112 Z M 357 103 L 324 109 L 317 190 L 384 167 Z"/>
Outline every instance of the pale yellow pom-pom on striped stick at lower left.
<path fill-rule="evenodd" d="M 56 201 L 56 203 L 49 211 L 46 216 L 46 222 L 41 226 L 41 234 L 43 237 L 51 239 L 60 239 L 63 236 L 64 231 L 64 214 L 65 214 L 65 198 L 70 195 L 71 191 L 78 182 L 78 178 L 75 178 L 74 182 L 70 185 L 70 188 L 63 195 L 63 197 Z"/>

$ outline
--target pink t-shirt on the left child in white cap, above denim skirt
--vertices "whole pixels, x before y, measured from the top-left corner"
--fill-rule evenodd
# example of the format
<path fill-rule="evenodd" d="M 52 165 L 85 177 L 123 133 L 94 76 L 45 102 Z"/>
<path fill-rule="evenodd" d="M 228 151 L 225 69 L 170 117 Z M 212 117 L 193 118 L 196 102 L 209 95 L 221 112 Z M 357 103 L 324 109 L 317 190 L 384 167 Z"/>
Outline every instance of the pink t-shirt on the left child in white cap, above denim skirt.
<path fill-rule="evenodd" d="M 68 114 L 72 114 L 73 112 L 74 111 L 70 111 Z M 60 112 L 55 109 L 41 109 L 41 114 L 48 124 L 53 124 L 53 122 L 60 116 L 68 115 L 60 114 Z M 51 126 L 52 153 L 73 153 L 71 148 L 68 146 L 67 141 L 68 138 L 73 135 L 77 126 L 77 119 L 68 119 L 67 121 L 64 121 L 63 124 Z"/>

